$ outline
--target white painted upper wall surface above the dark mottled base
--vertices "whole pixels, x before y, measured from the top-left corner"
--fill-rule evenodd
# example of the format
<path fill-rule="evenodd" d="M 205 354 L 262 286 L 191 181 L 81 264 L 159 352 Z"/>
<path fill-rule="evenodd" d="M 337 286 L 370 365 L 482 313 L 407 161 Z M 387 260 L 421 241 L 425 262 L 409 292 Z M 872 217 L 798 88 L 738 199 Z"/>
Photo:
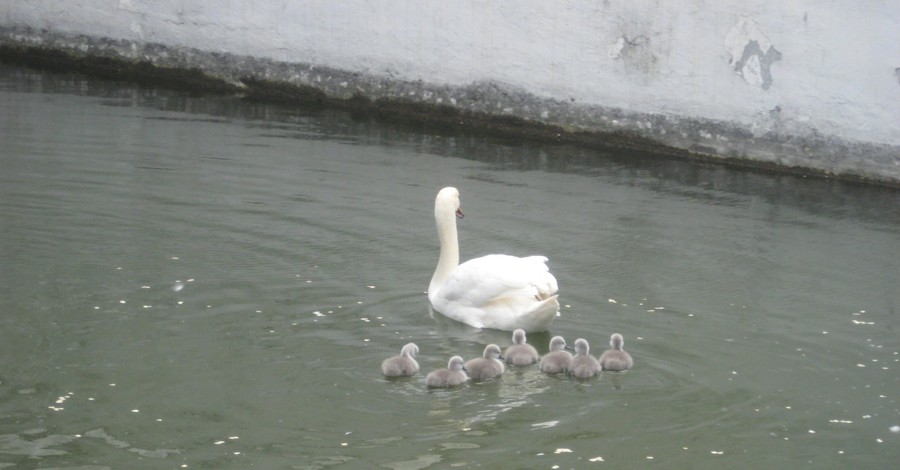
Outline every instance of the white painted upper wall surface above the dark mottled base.
<path fill-rule="evenodd" d="M 29 0 L 0 25 L 900 146 L 892 0 Z"/>

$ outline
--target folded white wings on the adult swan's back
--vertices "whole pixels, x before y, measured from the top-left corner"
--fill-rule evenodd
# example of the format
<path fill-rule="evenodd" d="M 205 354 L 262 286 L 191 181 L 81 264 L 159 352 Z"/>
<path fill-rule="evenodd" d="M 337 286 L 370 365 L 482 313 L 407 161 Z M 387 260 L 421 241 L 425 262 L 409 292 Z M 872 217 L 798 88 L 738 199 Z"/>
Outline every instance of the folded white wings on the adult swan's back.
<path fill-rule="evenodd" d="M 450 302 L 483 307 L 505 298 L 545 300 L 558 290 L 544 256 L 488 255 L 459 265 L 441 288 Z"/>

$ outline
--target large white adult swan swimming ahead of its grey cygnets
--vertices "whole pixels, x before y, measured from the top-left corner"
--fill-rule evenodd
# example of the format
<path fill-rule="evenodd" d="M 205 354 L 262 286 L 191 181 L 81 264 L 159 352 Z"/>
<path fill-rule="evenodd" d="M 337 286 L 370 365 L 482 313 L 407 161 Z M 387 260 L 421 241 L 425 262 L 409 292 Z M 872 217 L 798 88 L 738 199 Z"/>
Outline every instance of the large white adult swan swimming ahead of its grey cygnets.
<path fill-rule="evenodd" d="M 428 286 L 435 310 L 476 328 L 546 331 L 559 313 L 556 278 L 547 258 L 487 255 L 459 264 L 456 218 L 459 191 L 448 187 L 434 201 L 441 253 Z"/>

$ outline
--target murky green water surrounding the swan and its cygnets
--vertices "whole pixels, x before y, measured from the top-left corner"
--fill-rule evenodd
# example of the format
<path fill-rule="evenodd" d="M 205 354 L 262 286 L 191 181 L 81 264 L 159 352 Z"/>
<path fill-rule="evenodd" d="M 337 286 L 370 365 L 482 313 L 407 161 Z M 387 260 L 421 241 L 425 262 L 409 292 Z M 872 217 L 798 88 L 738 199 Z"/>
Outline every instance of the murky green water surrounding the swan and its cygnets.
<path fill-rule="evenodd" d="M 900 461 L 896 191 L 11 68 L 0 139 L 0 468 Z M 510 344 L 429 314 L 446 185 L 463 259 L 550 258 L 539 351 L 635 368 L 428 391 Z"/>

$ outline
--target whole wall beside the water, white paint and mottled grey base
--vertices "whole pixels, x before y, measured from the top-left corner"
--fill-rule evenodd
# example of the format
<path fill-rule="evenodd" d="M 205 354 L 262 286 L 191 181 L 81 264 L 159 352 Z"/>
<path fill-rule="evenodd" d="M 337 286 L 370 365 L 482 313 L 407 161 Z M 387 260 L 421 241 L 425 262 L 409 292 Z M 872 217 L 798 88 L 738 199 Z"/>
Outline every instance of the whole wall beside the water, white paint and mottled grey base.
<path fill-rule="evenodd" d="M 900 182 L 891 0 L 7 1 L 0 42 Z"/>

